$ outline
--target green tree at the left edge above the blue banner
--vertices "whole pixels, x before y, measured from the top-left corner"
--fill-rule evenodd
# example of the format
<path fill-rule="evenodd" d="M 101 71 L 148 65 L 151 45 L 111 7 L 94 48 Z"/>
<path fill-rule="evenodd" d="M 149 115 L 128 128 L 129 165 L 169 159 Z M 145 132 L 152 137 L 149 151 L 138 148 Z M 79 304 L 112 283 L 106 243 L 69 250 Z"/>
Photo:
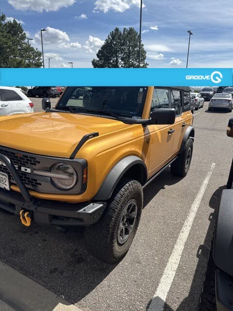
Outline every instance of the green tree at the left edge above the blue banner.
<path fill-rule="evenodd" d="M 40 68 L 42 53 L 28 45 L 26 34 L 15 19 L 0 15 L 0 68 Z"/>

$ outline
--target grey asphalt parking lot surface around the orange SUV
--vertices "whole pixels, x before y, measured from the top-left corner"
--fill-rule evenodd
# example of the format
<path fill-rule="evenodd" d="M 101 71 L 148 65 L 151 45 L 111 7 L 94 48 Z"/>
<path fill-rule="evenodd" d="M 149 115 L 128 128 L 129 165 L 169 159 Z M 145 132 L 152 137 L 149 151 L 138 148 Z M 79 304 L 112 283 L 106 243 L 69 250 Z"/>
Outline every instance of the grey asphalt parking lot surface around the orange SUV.
<path fill-rule="evenodd" d="M 41 98 L 32 98 L 41 111 Z M 51 99 L 53 106 L 57 99 Z M 226 126 L 233 113 L 194 114 L 189 173 L 166 169 L 144 190 L 140 225 L 128 254 L 104 264 L 87 253 L 83 231 L 21 225 L 0 211 L 0 260 L 82 311 L 195 311 L 221 191 L 232 161 Z M 166 302 L 165 302 L 166 300 Z M 47 311 L 53 306 L 48 302 Z M 38 310 L 39 307 L 38 307 Z"/>

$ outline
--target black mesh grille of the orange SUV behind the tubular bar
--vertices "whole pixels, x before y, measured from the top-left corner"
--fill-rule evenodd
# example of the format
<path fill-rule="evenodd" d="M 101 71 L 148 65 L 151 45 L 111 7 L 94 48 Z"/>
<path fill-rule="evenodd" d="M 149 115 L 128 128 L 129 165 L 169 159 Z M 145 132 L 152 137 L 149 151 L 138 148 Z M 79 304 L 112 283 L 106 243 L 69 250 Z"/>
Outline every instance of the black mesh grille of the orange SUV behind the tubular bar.
<path fill-rule="evenodd" d="M 27 188 L 36 189 L 38 186 L 41 186 L 41 183 L 39 183 L 37 179 L 31 178 L 29 173 L 24 173 L 21 171 L 22 166 L 33 169 L 36 167 L 37 164 L 40 164 L 40 161 L 38 161 L 35 156 L 25 155 L 24 153 L 14 150 L 6 150 L 2 147 L 0 147 L 0 154 L 7 156 L 11 160 L 11 162 L 18 168 L 17 173 L 19 174 L 24 185 Z M 3 173 L 7 173 L 10 182 L 16 185 L 14 178 L 12 177 L 6 166 L 0 165 L 0 171 Z"/>

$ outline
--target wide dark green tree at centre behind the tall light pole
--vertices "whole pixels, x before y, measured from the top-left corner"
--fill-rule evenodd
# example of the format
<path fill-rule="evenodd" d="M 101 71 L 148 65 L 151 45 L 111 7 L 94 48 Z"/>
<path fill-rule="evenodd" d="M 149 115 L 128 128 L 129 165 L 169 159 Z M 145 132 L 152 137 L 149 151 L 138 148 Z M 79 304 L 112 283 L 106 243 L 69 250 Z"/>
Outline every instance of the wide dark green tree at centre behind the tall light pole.
<path fill-rule="evenodd" d="M 147 53 L 141 45 L 141 67 L 146 68 Z M 115 28 L 106 38 L 92 60 L 94 68 L 137 68 L 139 63 L 139 34 L 133 28 L 124 28 L 123 32 Z"/>

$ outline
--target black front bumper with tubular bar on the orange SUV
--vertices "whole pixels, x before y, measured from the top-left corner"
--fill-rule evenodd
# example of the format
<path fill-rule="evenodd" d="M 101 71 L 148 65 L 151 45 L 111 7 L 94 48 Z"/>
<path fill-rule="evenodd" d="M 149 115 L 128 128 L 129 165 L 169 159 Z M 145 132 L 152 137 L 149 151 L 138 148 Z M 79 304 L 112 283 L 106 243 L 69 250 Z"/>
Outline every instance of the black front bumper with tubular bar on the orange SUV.
<path fill-rule="evenodd" d="M 5 155 L 0 160 L 14 177 L 21 193 L 0 189 L 0 208 L 18 214 L 21 209 L 31 212 L 34 222 L 41 225 L 93 225 L 100 219 L 105 202 L 79 204 L 34 199 L 23 184 L 15 166 Z"/>

